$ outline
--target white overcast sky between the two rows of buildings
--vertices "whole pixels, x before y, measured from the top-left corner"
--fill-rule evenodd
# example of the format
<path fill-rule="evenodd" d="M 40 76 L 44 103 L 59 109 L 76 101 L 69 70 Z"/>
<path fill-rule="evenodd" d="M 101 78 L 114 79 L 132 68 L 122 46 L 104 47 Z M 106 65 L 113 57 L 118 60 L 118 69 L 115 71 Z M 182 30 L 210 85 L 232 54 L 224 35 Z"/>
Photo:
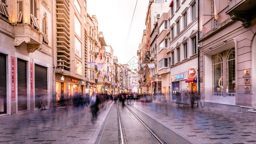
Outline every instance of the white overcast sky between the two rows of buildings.
<path fill-rule="evenodd" d="M 114 50 L 121 64 L 126 64 L 134 56 L 141 43 L 148 0 L 138 0 L 130 34 L 125 47 L 136 0 L 87 0 L 87 12 L 96 15 L 99 31 L 103 32 L 107 45 Z M 136 59 L 135 59 L 136 60 Z"/>

